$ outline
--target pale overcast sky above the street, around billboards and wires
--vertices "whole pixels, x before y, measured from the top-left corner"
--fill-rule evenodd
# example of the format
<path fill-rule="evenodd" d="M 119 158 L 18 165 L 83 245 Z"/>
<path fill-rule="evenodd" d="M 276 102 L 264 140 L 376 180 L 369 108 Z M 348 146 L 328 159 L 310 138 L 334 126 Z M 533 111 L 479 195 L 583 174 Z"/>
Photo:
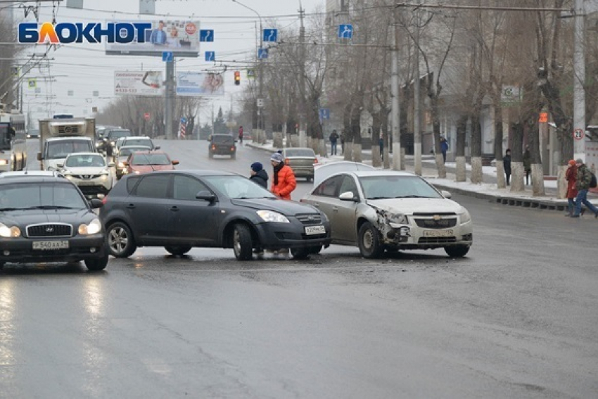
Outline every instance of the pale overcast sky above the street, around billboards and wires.
<path fill-rule="evenodd" d="M 240 0 L 241 3 L 253 8 L 262 16 L 265 28 L 269 20 L 276 20 L 282 27 L 299 27 L 298 9 L 299 0 Z M 324 0 L 301 0 L 303 8 L 309 13 L 324 10 Z M 83 10 L 66 8 L 66 1 L 58 8 L 50 4 L 42 5 L 39 22 L 51 21 L 56 13 L 59 22 L 89 22 L 105 20 L 148 20 L 148 19 L 192 19 L 200 20 L 201 29 L 215 30 L 215 42 L 202 43 L 199 58 L 185 58 L 177 60 L 179 71 L 203 71 L 215 68 L 220 63 L 204 61 L 204 51 L 215 51 L 217 59 L 248 60 L 256 49 L 256 26 L 259 20 L 255 13 L 247 8 L 234 3 L 232 0 L 157 0 L 155 3 L 156 15 L 148 18 L 147 15 L 138 15 L 139 0 L 84 0 Z M 15 18 L 34 21 L 33 15 L 23 19 L 23 10 L 15 9 Z M 23 56 L 32 53 L 44 53 L 44 46 L 28 47 Z M 114 94 L 114 72 L 117 70 L 165 70 L 165 63 L 159 57 L 150 56 L 106 56 L 104 44 L 71 44 L 68 48 L 62 47 L 58 51 L 49 53 L 49 71 L 46 69 L 34 70 L 31 76 L 51 75 L 55 82 L 37 80 L 37 87 L 41 91 L 35 94 L 25 84 L 25 111 L 30 108 L 38 112 L 40 107 L 46 112 L 43 103 L 46 96 L 56 96 L 51 100 L 58 103 L 51 110 L 53 113 L 74 113 L 84 115 L 91 113 L 92 106 L 102 108 Z M 240 93 L 243 86 L 238 87 L 233 83 L 234 63 L 229 65 L 228 72 L 224 75 L 224 98 L 216 99 L 216 106 L 228 109 L 231 96 Z M 216 68 L 215 70 L 222 70 Z M 241 74 L 242 84 L 246 84 L 245 73 Z M 73 96 L 68 96 L 68 91 Z M 93 91 L 98 91 L 99 96 L 94 97 Z M 207 111 L 204 111 L 203 118 Z M 43 114 L 34 115 L 35 118 Z"/>

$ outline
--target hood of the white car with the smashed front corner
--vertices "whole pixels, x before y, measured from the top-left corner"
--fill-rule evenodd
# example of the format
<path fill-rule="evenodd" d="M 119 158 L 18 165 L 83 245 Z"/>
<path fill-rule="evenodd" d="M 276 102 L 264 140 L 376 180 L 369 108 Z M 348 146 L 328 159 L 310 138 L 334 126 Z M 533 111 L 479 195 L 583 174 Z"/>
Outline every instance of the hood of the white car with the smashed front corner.
<path fill-rule="evenodd" d="M 462 206 L 447 198 L 388 198 L 367 203 L 391 213 L 459 213 Z"/>

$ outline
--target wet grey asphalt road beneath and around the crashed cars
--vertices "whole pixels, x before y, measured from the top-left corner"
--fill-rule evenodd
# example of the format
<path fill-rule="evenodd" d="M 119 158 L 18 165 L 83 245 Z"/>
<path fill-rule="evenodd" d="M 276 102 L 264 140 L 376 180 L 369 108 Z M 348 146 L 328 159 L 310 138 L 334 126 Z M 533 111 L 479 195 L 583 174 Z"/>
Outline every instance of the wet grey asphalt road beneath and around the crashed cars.
<path fill-rule="evenodd" d="M 263 151 L 161 144 L 180 169 L 271 170 Z M 596 398 L 598 220 L 454 199 L 475 224 L 459 260 L 139 248 L 101 273 L 6 265 L 0 398 Z"/>

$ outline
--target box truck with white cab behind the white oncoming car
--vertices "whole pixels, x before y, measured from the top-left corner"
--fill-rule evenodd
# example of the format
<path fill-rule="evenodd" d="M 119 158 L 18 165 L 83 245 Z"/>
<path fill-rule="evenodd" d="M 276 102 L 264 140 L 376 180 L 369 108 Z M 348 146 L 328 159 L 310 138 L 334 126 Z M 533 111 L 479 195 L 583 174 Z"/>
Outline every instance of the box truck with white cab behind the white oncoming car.
<path fill-rule="evenodd" d="M 94 118 L 52 118 L 39 120 L 39 153 L 42 170 L 58 170 L 70 153 L 96 152 Z"/>

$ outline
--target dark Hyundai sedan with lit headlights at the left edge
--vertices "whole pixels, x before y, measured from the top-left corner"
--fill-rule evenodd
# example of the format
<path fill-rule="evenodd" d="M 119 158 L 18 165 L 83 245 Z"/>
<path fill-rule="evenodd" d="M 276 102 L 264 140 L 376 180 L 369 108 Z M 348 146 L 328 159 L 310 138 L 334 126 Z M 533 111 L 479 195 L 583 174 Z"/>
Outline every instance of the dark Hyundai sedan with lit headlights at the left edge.
<path fill-rule="evenodd" d="M 91 205 L 90 205 L 91 204 Z M 103 270 L 103 226 L 77 186 L 63 177 L 0 179 L 0 269 L 6 262 L 73 262 Z"/>

